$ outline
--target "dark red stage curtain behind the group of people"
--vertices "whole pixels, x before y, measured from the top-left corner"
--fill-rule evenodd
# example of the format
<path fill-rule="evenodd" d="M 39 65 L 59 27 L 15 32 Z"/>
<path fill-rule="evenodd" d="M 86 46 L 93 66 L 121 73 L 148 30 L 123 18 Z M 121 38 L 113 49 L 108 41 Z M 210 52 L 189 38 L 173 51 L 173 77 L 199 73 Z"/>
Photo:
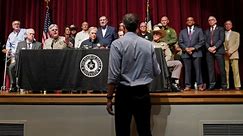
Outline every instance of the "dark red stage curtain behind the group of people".
<path fill-rule="evenodd" d="M 160 22 L 161 16 L 167 15 L 170 25 L 177 33 L 185 26 L 188 16 L 193 16 L 197 24 L 206 29 L 209 15 L 216 16 L 219 25 L 231 19 L 234 30 L 241 33 L 242 5 L 242 0 L 150 0 L 153 24 Z M 137 13 L 141 21 L 145 20 L 146 16 L 146 0 L 51 0 L 49 6 L 52 21 L 59 25 L 61 35 L 67 25 L 75 24 L 80 30 L 83 21 L 87 21 L 90 26 L 98 26 L 101 15 L 107 16 L 109 24 L 115 27 L 125 13 Z M 41 41 L 44 17 L 44 0 L 0 0 L 1 43 L 6 42 L 8 34 L 12 31 L 13 20 L 20 20 L 24 28 L 34 28 L 36 39 Z M 3 56 L 1 54 L 1 58 Z M 3 61 L 0 68 L 3 69 Z"/>

